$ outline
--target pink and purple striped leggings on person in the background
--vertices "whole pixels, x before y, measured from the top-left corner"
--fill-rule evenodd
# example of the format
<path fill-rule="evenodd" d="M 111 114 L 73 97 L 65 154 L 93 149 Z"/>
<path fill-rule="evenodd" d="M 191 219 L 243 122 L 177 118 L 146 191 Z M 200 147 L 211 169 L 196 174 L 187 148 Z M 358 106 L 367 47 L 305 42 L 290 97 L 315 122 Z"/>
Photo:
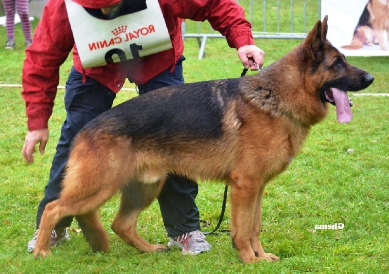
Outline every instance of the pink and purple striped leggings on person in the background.
<path fill-rule="evenodd" d="M 14 38 L 15 35 L 15 14 L 18 11 L 21 28 L 26 41 L 31 40 L 31 22 L 28 14 L 28 0 L 3 0 L 5 11 L 5 27 L 7 37 Z"/>

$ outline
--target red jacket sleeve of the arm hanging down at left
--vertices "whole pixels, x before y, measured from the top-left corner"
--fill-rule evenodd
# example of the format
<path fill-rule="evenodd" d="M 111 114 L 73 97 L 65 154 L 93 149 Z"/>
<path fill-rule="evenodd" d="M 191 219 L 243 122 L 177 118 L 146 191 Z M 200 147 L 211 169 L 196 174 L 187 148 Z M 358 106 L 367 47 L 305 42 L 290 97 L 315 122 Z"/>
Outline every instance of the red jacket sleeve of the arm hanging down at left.
<path fill-rule="evenodd" d="M 59 82 L 59 67 L 74 45 L 64 0 L 49 0 L 26 49 L 22 97 L 29 130 L 48 128 Z"/>

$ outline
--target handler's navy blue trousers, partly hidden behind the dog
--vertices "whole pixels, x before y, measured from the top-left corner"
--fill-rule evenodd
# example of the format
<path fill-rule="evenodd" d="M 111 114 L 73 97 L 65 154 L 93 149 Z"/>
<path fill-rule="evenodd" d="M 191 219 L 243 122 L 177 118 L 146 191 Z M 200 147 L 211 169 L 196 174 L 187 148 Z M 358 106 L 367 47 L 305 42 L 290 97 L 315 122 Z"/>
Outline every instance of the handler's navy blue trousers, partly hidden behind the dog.
<path fill-rule="evenodd" d="M 183 60 L 185 58 L 181 57 L 173 73 L 170 73 L 170 69 L 168 69 L 147 84 L 139 85 L 139 93 L 142 94 L 165 86 L 183 84 Z M 66 82 L 65 92 L 65 110 L 67 115 L 56 146 L 49 182 L 45 186 L 45 195 L 38 206 L 36 215 L 37 228 L 39 228 L 40 219 L 46 204 L 58 199 L 71 141 L 77 132 L 90 120 L 109 110 L 115 97 L 115 92 L 89 77 L 87 77 L 86 83 L 82 83 L 82 74 L 74 68 L 71 69 Z M 178 236 L 200 229 L 199 211 L 195 203 L 197 192 L 198 186 L 195 181 L 178 175 L 168 176 L 159 194 L 158 201 L 163 223 L 169 236 Z M 72 219 L 73 217 L 64 218 L 56 227 L 69 227 Z"/>

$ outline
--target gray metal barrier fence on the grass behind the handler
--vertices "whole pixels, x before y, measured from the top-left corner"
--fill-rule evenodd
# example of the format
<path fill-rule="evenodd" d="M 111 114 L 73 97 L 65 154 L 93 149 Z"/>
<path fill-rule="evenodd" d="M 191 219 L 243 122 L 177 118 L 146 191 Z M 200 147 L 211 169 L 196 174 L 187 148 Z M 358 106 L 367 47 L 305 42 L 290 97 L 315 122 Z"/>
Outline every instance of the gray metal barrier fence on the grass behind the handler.
<path fill-rule="evenodd" d="M 303 39 L 307 36 L 307 23 L 313 25 L 320 18 L 320 0 L 236 1 L 245 9 L 254 38 Z M 296 14 L 298 16 L 295 16 Z M 215 32 L 208 22 L 193 21 L 182 23 L 182 36 L 184 39 L 197 39 L 200 48 L 198 59 L 205 55 L 208 38 L 223 37 Z"/>

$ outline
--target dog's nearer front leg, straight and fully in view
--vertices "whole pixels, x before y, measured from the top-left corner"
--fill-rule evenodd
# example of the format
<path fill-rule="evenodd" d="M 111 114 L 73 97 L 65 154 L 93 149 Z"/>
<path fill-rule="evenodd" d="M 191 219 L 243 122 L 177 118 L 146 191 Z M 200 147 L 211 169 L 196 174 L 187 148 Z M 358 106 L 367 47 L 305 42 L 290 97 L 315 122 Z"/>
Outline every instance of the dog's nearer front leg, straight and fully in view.
<path fill-rule="evenodd" d="M 240 259 L 245 263 L 258 261 L 250 239 L 259 184 L 248 176 L 231 176 L 231 237 Z"/>

